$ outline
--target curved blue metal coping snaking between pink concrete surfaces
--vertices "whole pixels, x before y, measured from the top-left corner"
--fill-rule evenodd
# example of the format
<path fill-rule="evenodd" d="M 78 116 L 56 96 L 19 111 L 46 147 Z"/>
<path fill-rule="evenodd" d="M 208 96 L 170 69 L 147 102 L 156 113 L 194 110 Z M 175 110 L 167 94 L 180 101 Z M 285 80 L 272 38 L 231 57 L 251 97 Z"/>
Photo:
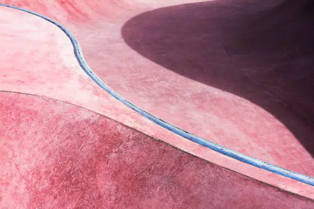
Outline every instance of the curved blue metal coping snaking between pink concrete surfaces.
<path fill-rule="evenodd" d="M 146 117 L 147 119 L 153 121 L 154 123 L 158 124 L 159 126 L 175 133 L 178 134 L 186 139 L 189 139 L 195 143 L 201 144 L 209 149 L 212 149 L 214 151 L 217 151 L 221 154 L 227 155 L 229 157 L 232 157 L 234 159 L 240 160 L 242 162 L 248 163 L 250 165 L 256 166 L 260 169 L 290 178 L 290 179 L 294 179 L 309 185 L 314 186 L 314 178 L 310 177 L 310 176 L 306 176 L 304 174 L 300 174 L 294 171 L 290 171 L 284 168 L 281 168 L 280 166 L 247 156 L 245 154 L 230 150 L 228 148 L 223 147 L 222 145 L 219 145 L 217 143 L 211 142 L 207 139 L 204 139 L 202 137 L 199 137 L 197 135 L 194 135 L 192 133 L 189 133 L 179 127 L 174 126 L 171 123 L 168 123 L 152 114 L 150 114 L 149 112 L 146 112 L 145 110 L 139 108 L 138 106 L 134 105 L 132 102 L 128 101 L 126 98 L 124 98 L 123 96 L 121 96 L 120 94 L 118 94 L 117 92 L 115 92 L 114 90 L 112 90 L 108 85 L 106 85 L 106 83 L 104 83 L 99 77 L 96 76 L 96 74 L 91 70 L 91 68 L 88 66 L 84 56 L 83 56 L 83 52 L 82 52 L 82 48 L 80 46 L 80 44 L 78 44 L 78 41 L 76 39 L 76 37 L 64 26 L 62 26 L 60 23 L 56 22 L 55 20 L 46 17 L 40 13 L 36 13 L 33 11 L 30 11 L 28 9 L 24 9 L 24 8 L 19 8 L 19 7 L 15 7 L 15 6 L 11 6 L 11 5 L 6 5 L 6 4 L 0 4 L 0 6 L 4 6 L 4 7 L 8 7 L 8 8 L 12 8 L 12 9 L 17 9 L 17 10 L 21 10 L 33 15 L 36 15 L 38 17 L 41 17 L 47 21 L 49 21 L 50 23 L 54 24 L 55 26 L 57 26 L 58 28 L 60 28 L 71 40 L 71 43 L 73 45 L 74 48 L 74 54 L 75 57 L 78 61 L 78 63 L 80 64 L 81 68 L 85 71 L 85 73 L 94 81 L 97 83 L 97 85 L 99 85 L 102 89 L 104 89 L 107 93 L 109 93 L 111 96 L 113 96 L 114 98 L 116 98 L 117 100 L 121 101 L 122 103 L 124 103 L 126 106 L 128 106 L 129 108 L 133 109 L 134 111 L 140 113 L 142 116 Z"/>

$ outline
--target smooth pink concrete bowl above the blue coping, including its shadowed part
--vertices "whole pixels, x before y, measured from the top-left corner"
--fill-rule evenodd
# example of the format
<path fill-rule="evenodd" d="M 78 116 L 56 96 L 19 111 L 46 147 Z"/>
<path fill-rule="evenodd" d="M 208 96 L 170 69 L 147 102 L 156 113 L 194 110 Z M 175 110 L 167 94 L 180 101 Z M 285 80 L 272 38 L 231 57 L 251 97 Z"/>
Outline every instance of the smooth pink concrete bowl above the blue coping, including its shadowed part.
<path fill-rule="evenodd" d="M 276 28 L 276 24 L 270 24 L 277 23 L 272 19 L 284 19 L 285 28 L 295 27 L 286 21 L 285 10 L 289 7 L 271 12 L 280 1 L 220 0 L 171 7 L 166 7 L 168 1 L 4 3 L 40 12 L 69 28 L 80 41 L 93 71 L 144 110 L 229 149 L 314 175 L 314 129 L 312 122 L 304 119 L 308 115 L 312 118 L 305 113 L 312 112 L 313 97 L 298 88 L 300 83 L 308 83 L 304 85 L 308 89 L 312 76 L 308 76 L 309 70 L 302 70 L 302 78 L 308 76 L 303 82 L 289 73 L 290 69 L 305 68 L 304 58 L 291 58 L 293 68 L 283 66 L 283 51 L 267 48 L 262 53 L 260 46 L 253 44 L 257 40 L 263 46 L 268 44 L 259 34 Z M 265 19 L 265 11 L 279 13 L 279 17 Z M 250 22 L 253 17 L 259 20 L 255 24 Z M 249 19 L 246 25 L 243 19 Z M 308 23 L 308 19 L 298 21 Z M 280 32 L 273 34 L 280 36 Z M 246 47 L 237 40 L 242 40 L 243 33 L 257 36 L 250 37 L 250 51 L 234 52 L 233 48 Z M 276 46 L 276 41 L 269 41 L 269 46 Z M 265 54 L 277 56 L 280 61 Z M 263 65 L 254 62 L 256 57 Z M 278 74 L 278 69 L 285 67 L 289 68 L 287 75 Z"/>

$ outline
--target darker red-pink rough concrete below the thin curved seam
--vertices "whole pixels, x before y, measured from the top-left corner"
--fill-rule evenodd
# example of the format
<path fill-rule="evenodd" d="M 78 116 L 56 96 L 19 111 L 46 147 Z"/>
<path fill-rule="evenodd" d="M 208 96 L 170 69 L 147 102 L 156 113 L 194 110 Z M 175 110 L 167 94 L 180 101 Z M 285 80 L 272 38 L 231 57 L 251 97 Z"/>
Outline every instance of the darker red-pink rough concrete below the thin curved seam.
<path fill-rule="evenodd" d="M 313 208 L 95 112 L 0 93 L 1 208 Z"/>

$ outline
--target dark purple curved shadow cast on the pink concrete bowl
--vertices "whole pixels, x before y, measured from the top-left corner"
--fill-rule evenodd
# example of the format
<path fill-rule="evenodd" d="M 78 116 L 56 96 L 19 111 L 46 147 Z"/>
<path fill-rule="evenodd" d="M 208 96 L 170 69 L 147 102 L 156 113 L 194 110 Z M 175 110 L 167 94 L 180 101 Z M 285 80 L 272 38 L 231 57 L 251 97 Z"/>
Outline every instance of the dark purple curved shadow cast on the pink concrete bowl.
<path fill-rule="evenodd" d="M 258 11 L 257 2 L 263 4 L 220 0 L 156 9 L 130 19 L 122 35 L 157 64 L 256 103 L 313 156 L 313 3 L 288 0 Z"/>

